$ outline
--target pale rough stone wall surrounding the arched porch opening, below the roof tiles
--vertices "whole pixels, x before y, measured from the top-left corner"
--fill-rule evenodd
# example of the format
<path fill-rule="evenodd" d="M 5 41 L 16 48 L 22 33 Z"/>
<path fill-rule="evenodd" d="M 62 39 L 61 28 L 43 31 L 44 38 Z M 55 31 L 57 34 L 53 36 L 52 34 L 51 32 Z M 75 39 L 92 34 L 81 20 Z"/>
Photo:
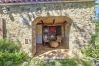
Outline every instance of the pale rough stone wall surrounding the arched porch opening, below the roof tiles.
<path fill-rule="evenodd" d="M 69 16 L 73 21 L 69 34 L 70 50 L 88 44 L 90 34 L 95 30 L 92 21 L 95 16 L 93 2 L 0 6 L 0 9 L 0 17 L 6 20 L 7 37 L 19 40 L 22 49 L 29 55 L 32 52 L 32 34 L 35 35 L 35 31 L 32 32 L 32 28 L 35 29 L 32 22 L 36 17 Z"/>

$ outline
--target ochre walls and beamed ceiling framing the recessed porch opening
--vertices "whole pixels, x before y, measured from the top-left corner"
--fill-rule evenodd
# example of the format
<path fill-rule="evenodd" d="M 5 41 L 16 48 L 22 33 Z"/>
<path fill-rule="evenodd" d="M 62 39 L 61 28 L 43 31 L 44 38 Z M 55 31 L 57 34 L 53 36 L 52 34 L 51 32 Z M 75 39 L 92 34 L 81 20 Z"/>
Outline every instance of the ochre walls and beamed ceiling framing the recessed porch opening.
<path fill-rule="evenodd" d="M 61 26 L 61 48 L 51 48 L 51 49 L 69 49 L 69 34 L 70 27 L 72 24 L 72 19 L 67 16 L 46 16 L 46 17 L 37 17 L 32 22 L 32 53 L 35 55 L 38 50 L 37 46 L 37 34 L 43 35 L 43 26 Z M 39 25 L 39 26 L 38 26 Z M 40 29 L 40 31 L 39 31 Z M 43 36 L 42 36 L 43 37 Z M 41 44 L 43 46 L 43 38 L 41 37 Z M 59 46 L 60 46 L 59 45 Z M 46 49 L 45 49 L 46 50 Z M 41 52 L 41 51 L 40 51 Z M 42 52 L 41 52 L 42 53 Z"/>

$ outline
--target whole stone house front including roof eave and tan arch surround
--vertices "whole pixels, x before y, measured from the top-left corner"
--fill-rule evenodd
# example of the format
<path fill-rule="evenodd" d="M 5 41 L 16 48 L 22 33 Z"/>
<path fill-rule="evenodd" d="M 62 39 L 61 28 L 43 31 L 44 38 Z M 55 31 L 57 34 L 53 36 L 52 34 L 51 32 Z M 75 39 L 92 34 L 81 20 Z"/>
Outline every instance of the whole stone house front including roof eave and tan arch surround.
<path fill-rule="evenodd" d="M 54 18 L 67 22 L 64 45 L 72 52 L 87 45 L 95 31 L 94 0 L 0 3 L 0 38 L 20 41 L 30 56 L 36 52 L 36 34 L 42 35 L 42 26 L 36 26 L 41 20 L 50 22 Z"/>

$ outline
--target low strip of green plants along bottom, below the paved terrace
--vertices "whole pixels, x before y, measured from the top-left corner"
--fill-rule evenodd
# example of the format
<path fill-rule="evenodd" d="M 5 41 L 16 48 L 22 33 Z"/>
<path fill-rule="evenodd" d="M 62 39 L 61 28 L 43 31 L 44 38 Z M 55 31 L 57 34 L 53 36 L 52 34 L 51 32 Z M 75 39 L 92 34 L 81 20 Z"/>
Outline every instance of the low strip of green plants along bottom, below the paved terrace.
<path fill-rule="evenodd" d="M 31 65 L 34 66 L 91 66 L 91 62 L 86 59 L 69 58 L 69 59 L 51 59 L 51 60 L 32 60 Z"/>

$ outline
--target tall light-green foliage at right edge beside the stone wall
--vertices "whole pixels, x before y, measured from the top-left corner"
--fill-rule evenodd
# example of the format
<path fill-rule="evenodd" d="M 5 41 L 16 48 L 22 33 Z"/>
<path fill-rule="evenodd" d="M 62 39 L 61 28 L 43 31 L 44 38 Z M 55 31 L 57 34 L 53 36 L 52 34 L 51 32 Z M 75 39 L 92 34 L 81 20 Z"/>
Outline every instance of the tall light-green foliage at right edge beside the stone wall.
<path fill-rule="evenodd" d="M 83 54 L 88 57 L 96 58 L 99 60 L 99 20 L 96 21 L 96 31 L 92 35 L 91 43 L 82 50 Z"/>

